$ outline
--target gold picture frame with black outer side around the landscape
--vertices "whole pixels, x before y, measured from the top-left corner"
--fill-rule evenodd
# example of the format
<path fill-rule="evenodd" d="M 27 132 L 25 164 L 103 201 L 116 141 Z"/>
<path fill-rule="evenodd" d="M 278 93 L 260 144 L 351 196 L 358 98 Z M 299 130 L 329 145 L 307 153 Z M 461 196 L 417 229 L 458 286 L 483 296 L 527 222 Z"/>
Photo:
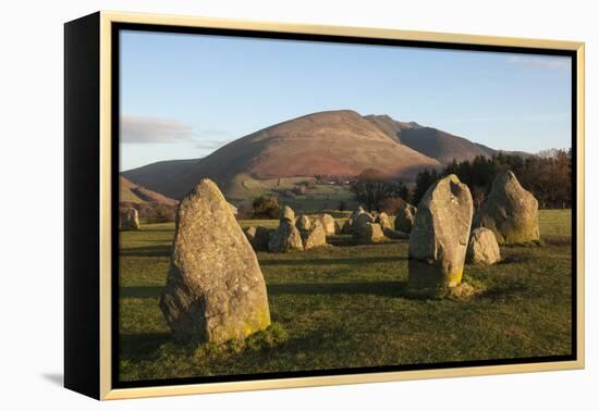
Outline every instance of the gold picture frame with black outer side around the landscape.
<path fill-rule="evenodd" d="M 547 49 L 547 50 L 565 50 L 575 54 L 576 70 L 575 75 L 575 91 L 576 91 L 576 117 L 575 122 L 576 134 L 576 267 L 575 285 L 575 329 L 576 329 L 576 358 L 572 361 L 555 361 L 555 362 L 530 362 L 518 364 L 503 365 L 485 365 L 485 366 L 467 366 L 467 368 L 449 368 L 449 369 L 432 369 L 432 370 L 412 370 L 412 371 L 393 371 L 393 372 L 376 372 L 362 374 L 343 374 L 343 375 L 327 375 L 327 376 L 301 376 L 291 378 L 278 379 L 253 379 L 253 381 L 235 381 L 235 382 L 216 382 L 201 384 L 185 384 L 185 385 L 168 385 L 168 386 L 150 386 L 150 387 L 134 387 L 134 388 L 114 388 L 112 384 L 113 375 L 113 356 L 111 341 L 113 338 L 113 316 L 112 316 L 112 291 L 114 288 L 112 275 L 113 256 L 113 207 L 112 199 L 115 195 L 114 189 L 114 172 L 112 169 L 113 154 L 113 107 L 112 107 L 112 76 L 114 75 L 114 61 L 112 57 L 113 48 L 113 27 L 117 24 L 139 24 L 155 26 L 176 26 L 176 27 L 201 27 L 216 29 L 234 29 L 249 32 L 268 32 L 268 33 L 285 33 L 297 35 L 314 35 L 314 36 L 340 36 L 350 38 L 363 39 L 389 39 L 417 42 L 435 42 L 447 45 L 469 45 L 476 47 L 506 47 L 522 49 Z M 85 178 L 94 180 L 94 197 L 89 197 L 89 204 L 99 201 L 94 208 L 98 211 L 97 217 L 94 220 L 94 234 L 98 235 L 97 242 L 85 245 L 77 240 L 75 236 L 70 237 L 70 225 L 74 224 L 66 220 L 66 260 L 75 259 L 75 252 L 82 254 L 82 259 L 87 253 L 95 257 L 97 266 L 87 266 L 86 271 L 94 271 L 96 274 L 93 281 L 84 282 L 75 278 L 76 275 L 82 275 L 82 270 L 85 270 L 87 264 L 85 261 L 74 261 L 68 263 L 65 267 L 65 386 L 80 393 L 89 395 L 98 399 L 124 399 L 124 398 L 140 398 L 156 397 L 170 395 L 188 395 L 204 393 L 225 393 L 236 390 L 257 390 L 257 389 L 273 389 L 273 388 L 291 388 L 291 387 L 308 387 L 308 386 L 325 386 L 339 384 L 356 384 L 356 383 L 377 383 L 404 379 L 420 379 L 420 378 L 438 378 L 438 377 L 456 377 L 456 376 L 473 376 L 487 374 L 505 374 L 505 373 L 524 373 L 539 371 L 557 371 L 557 370 L 574 370 L 584 368 L 584 224 L 585 224 L 585 197 L 584 197 L 584 104 L 585 104 L 585 46 L 584 42 L 575 41 L 559 41 L 545 39 L 525 39 L 511 37 L 492 37 L 492 36 L 474 36 L 462 34 L 447 33 L 427 33 L 427 32 L 409 32 L 399 29 L 382 29 L 382 28 L 365 28 L 365 27 L 342 27 L 342 26 L 320 26 L 320 25 L 300 25 L 300 24 L 282 24 L 272 22 L 250 22 L 236 21 L 228 18 L 205 18 L 174 15 L 157 15 L 157 14 L 139 14 L 139 13 L 120 13 L 120 12 L 98 12 L 90 16 L 83 17 L 78 21 L 68 23 L 65 26 L 65 139 L 66 139 L 66 203 L 69 204 L 69 183 L 70 178 Z M 87 53 L 94 53 L 96 59 L 89 61 Z M 81 66 L 82 59 L 86 59 L 89 66 L 96 67 L 97 84 L 89 85 L 89 78 L 80 79 L 78 83 L 73 80 L 71 74 L 75 66 Z M 94 80 L 94 77 L 91 77 Z M 87 88 L 86 88 L 87 87 Z M 87 90 L 89 101 L 96 101 L 97 105 L 87 107 L 81 100 L 81 90 Z M 78 97 L 77 97 L 78 96 Z M 87 95 L 86 95 L 87 96 Z M 86 97 L 87 98 L 87 97 Z M 69 100 L 71 99 L 71 103 Z M 78 99 L 80 103 L 74 100 Z M 85 100 L 85 99 L 84 99 Z M 97 112 L 95 111 L 97 109 Z M 86 111 L 87 114 L 84 114 Z M 82 116 L 88 121 L 83 122 Z M 97 138 L 84 136 L 82 132 L 97 132 Z M 80 139 L 77 142 L 76 139 Z M 90 142 L 81 141 L 88 139 Z M 98 169 L 82 171 L 77 177 L 71 177 L 75 173 L 75 169 L 82 167 L 82 163 L 70 163 L 70 150 L 82 149 L 81 146 L 89 148 L 90 155 L 97 154 Z M 72 147 L 72 149 L 70 149 Z M 93 167 L 89 165 L 89 167 Z M 83 170 L 83 169 L 78 169 Z M 72 180 L 75 184 L 75 179 Z M 69 205 L 68 205 L 69 207 Z M 73 211 L 74 208 L 71 209 Z M 574 211 L 574 210 L 573 210 Z M 86 215 L 85 211 L 80 212 L 81 216 Z M 73 216 L 73 219 L 75 219 Z M 71 238 L 71 239 L 70 239 Z M 84 249 L 84 247 L 86 247 Z M 87 259 L 87 261 L 89 261 Z M 78 269 L 77 269 L 78 267 Z M 85 283 L 85 284 L 84 284 Z M 75 296 L 76 295 L 76 296 Z M 78 297 L 77 297 L 78 296 Z M 82 301 L 82 299 L 87 301 Z M 91 297 L 90 299 L 88 297 Z M 91 310 L 91 306 L 97 304 L 97 311 Z M 86 308 L 87 307 L 87 308 Z M 87 337 L 97 338 L 97 345 L 89 346 L 89 341 L 82 339 L 78 334 L 84 333 L 87 328 L 82 328 L 82 317 L 77 315 L 86 314 L 94 316 L 97 314 L 97 321 L 90 320 L 87 326 L 94 331 L 88 333 Z M 89 329 L 91 329 L 89 328 Z M 87 344 L 87 348 L 81 348 Z M 82 351 L 83 350 L 83 351 Z M 97 351 L 96 351 L 97 350 Z M 85 351 L 85 352 L 84 352 Z M 90 365 L 91 364 L 91 365 Z M 85 370 L 91 370 L 91 374 L 97 371 L 96 377 L 85 379 Z"/>

